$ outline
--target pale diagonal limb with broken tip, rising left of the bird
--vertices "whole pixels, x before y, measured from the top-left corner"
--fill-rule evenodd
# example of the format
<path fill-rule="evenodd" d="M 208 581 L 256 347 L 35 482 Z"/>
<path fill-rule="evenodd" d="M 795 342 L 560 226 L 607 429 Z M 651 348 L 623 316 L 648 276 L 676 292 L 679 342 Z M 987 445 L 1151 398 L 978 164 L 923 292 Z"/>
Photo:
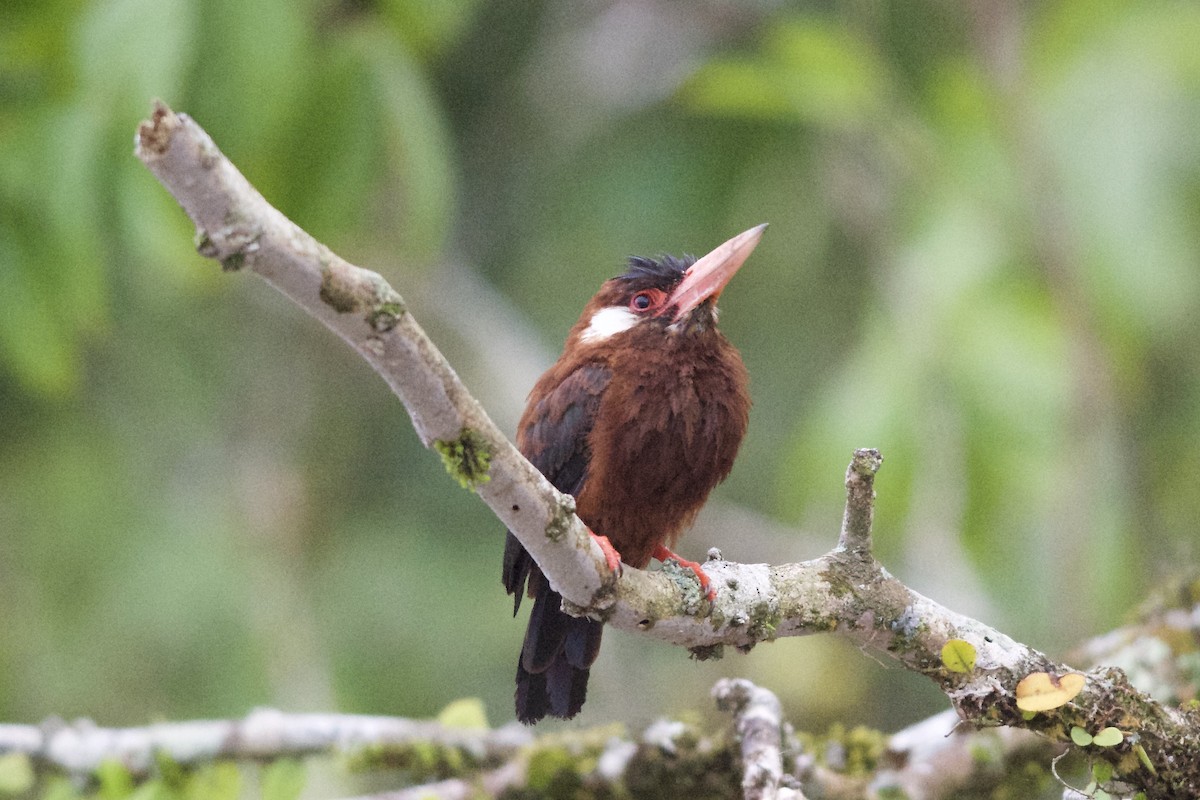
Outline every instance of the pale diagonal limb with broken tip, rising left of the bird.
<path fill-rule="evenodd" d="M 136 154 L 192 218 L 200 254 L 265 278 L 383 377 L 421 441 L 521 536 L 559 594 L 588 608 L 611 602 L 613 576 L 572 499 L 492 423 L 398 293 L 266 203 L 186 115 L 156 104 L 138 128 Z"/>

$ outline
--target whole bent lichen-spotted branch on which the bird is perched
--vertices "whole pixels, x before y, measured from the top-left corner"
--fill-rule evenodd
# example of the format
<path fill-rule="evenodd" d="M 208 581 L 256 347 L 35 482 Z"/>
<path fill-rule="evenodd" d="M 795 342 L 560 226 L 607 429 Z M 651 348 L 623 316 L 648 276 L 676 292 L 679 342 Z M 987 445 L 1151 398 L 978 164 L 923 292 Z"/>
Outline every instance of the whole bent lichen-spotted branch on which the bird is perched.
<path fill-rule="evenodd" d="M 1014 726 L 1068 741 L 1073 727 L 1116 726 L 1127 738 L 1100 753 L 1152 796 L 1200 796 L 1200 721 L 1136 692 L 1117 669 L 1086 675 L 1067 705 L 1032 718 L 1016 706 L 1031 673 L 1072 669 L 1000 631 L 912 591 L 871 555 L 874 475 L 881 458 L 858 451 L 847 473 L 839 546 L 799 564 L 710 559 L 716 601 L 690 575 L 626 567 L 618 579 L 558 493 L 496 428 L 384 279 L 342 260 L 271 207 L 194 121 L 161 103 L 137 134 L 137 156 L 197 225 L 197 247 L 226 270 L 247 267 L 353 347 L 403 401 L 421 441 L 474 489 L 538 561 L 572 613 L 692 648 L 749 649 L 781 636 L 836 632 L 932 679 L 960 718 Z M 942 648 L 971 645 L 968 668 L 952 669 Z M 1146 766 L 1146 764 L 1151 766 Z"/>

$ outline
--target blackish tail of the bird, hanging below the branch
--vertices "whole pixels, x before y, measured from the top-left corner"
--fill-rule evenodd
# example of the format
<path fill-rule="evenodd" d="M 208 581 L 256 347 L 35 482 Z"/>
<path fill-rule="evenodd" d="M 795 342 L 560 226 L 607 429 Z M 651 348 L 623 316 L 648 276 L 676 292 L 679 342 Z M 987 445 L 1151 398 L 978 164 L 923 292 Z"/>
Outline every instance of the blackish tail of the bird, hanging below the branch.
<path fill-rule="evenodd" d="M 517 661 L 517 718 L 526 724 L 547 714 L 569 720 L 580 712 L 588 694 L 588 668 L 604 633 L 595 620 L 564 614 L 559 594 L 545 578 L 538 583 Z"/>

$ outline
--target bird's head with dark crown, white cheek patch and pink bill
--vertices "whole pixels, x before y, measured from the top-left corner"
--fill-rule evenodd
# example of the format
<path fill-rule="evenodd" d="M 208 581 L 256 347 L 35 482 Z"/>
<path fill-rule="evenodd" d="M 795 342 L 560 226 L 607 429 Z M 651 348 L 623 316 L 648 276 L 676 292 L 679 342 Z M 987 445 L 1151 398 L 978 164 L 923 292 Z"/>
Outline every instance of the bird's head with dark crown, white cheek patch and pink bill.
<path fill-rule="evenodd" d="M 594 344 L 653 326 L 672 335 L 715 330 L 716 297 L 745 263 L 767 224 L 738 234 L 701 259 L 629 259 L 629 269 L 600 287 L 583 309 L 572 339 Z"/>

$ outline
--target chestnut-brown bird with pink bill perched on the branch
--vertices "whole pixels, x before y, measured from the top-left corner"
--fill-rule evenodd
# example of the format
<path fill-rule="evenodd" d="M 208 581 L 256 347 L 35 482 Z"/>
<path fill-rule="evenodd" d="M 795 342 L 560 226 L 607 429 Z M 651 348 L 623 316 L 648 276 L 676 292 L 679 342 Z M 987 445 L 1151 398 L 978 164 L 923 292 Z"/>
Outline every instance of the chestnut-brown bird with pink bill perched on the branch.
<path fill-rule="evenodd" d="M 558 361 L 536 381 L 517 447 L 596 537 L 614 571 L 652 558 L 700 565 L 671 548 L 733 467 L 749 422 L 749 375 L 716 329 L 716 299 L 758 243 L 751 228 L 700 258 L 631 257 L 584 306 Z M 619 563 L 617 561 L 619 559 Z M 516 715 L 571 718 L 587 698 L 602 624 L 571 616 L 508 533 L 503 583 L 533 609 L 517 660 Z"/>

